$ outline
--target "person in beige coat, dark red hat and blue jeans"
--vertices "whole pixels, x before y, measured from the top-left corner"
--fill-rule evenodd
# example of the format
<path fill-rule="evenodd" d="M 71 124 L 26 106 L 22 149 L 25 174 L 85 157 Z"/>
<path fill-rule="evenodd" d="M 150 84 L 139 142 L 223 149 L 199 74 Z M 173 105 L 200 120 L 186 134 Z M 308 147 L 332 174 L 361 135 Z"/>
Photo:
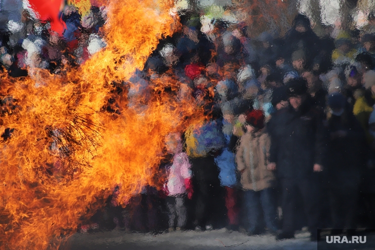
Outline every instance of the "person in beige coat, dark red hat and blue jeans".
<path fill-rule="evenodd" d="M 244 190 L 244 204 L 248 216 L 249 235 L 259 234 L 260 209 L 262 207 L 267 228 L 277 231 L 276 209 L 272 197 L 272 186 L 275 179 L 267 169 L 269 154 L 269 136 L 263 128 L 262 110 L 254 109 L 247 114 L 246 134 L 241 137 L 237 149 L 237 169 L 241 173 L 241 186 Z"/>

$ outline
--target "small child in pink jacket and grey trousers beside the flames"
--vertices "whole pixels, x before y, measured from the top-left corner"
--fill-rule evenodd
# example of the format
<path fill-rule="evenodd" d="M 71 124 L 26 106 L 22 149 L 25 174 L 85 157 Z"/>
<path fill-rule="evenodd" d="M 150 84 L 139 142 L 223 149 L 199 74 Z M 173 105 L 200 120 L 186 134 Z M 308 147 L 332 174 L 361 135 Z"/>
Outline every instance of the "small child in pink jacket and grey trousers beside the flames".
<path fill-rule="evenodd" d="M 190 185 L 191 171 L 188 155 L 182 151 L 182 140 L 179 134 L 170 134 L 166 137 L 166 147 L 169 153 L 174 154 L 172 164 L 167 167 L 168 178 L 165 183 L 169 216 L 169 231 L 184 228 L 187 220 L 185 198 L 191 199 Z"/>

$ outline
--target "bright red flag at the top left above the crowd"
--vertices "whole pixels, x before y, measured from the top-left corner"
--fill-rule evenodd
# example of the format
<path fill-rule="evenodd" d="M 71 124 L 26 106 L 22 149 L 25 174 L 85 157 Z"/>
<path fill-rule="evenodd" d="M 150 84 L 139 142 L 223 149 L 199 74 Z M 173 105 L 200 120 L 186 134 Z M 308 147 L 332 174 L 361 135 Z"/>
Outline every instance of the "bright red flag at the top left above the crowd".
<path fill-rule="evenodd" d="M 64 23 L 60 20 L 60 7 L 64 0 L 29 0 L 31 7 L 39 15 L 40 20 L 50 20 L 51 29 L 61 34 Z"/>

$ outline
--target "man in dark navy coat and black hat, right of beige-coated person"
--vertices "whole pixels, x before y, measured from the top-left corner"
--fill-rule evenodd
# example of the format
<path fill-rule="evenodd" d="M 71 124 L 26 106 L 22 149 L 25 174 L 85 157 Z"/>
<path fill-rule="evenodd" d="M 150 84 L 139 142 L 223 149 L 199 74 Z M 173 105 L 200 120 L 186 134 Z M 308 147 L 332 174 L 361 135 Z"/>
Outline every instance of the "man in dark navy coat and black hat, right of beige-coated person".
<path fill-rule="evenodd" d="M 287 92 L 290 106 L 278 110 L 268 123 L 268 169 L 276 170 L 282 188 L 283 226 L 277 239 L 294 237 L 294 208 L 300 193 L 311 240 L 316 240 L 320 206 L 316 172 L 323 170 L 326 133 L 322 114 L 307 94 L 307 82 L 291 80 Z"/>

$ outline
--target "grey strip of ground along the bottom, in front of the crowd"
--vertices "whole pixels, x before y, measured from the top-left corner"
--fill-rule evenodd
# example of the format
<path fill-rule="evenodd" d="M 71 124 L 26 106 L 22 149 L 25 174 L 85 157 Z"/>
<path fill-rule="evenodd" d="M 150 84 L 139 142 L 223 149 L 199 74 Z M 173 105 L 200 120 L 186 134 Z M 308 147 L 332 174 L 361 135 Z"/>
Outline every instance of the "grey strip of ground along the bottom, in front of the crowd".
<path fill-rule="evenodd" d="M 309 233 L 301 231 L 295 239 L 276 241 L 271 234 L 247 236 L 225 229 L 195 232 L 175 231 L 163 234 L 125 233 L 124 231 L 75 234 L 69 250 L 317 250 Z"/>

